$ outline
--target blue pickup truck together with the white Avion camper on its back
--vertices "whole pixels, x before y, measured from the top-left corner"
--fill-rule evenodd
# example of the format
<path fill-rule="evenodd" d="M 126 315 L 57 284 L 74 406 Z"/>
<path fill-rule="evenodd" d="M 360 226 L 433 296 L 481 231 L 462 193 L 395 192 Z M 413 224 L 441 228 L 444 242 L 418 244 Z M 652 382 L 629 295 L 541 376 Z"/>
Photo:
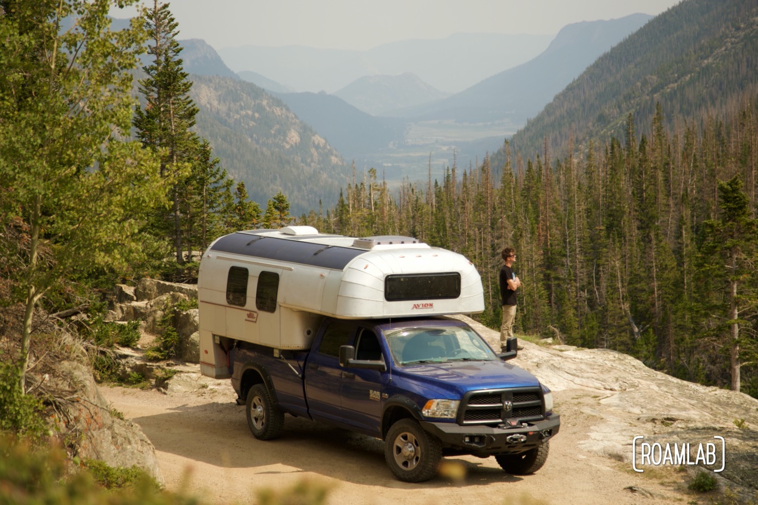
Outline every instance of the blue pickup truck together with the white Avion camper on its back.
<path fill-rule="evenodd" d="M 200 263 L 200 364 L 230 378 L 255 438 L 301 416 L 385 441 L 422 482 L 445 455 L 536 472 L 559 431 L 553 395 L 457 313 L 481 312 L 470 261 L 415 238 L 308 226 L 218 238 Z"/>

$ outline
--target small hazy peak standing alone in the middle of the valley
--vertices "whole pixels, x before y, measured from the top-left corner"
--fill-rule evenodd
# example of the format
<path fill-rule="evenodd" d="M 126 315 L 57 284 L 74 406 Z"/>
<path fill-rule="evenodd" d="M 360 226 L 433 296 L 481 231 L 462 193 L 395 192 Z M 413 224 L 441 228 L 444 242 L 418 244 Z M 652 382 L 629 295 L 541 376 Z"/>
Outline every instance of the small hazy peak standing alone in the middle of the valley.
<path fill-rule="evenodd" d="M 449 93 L 424 83 L 415 73 L 406 72 L 399 76 L 363 76 L 333 95 L 377 116 L 396 108 L 445 98 Z"/>

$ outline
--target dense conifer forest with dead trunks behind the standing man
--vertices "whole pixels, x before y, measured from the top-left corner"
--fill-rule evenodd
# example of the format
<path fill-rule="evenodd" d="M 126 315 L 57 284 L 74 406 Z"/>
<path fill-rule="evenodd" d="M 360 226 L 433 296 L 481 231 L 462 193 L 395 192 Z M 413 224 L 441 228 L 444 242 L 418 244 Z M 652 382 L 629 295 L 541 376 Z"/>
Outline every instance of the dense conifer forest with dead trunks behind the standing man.
<path fill-rule="evenodd" d="M 628 117 L 623 139 L 571 143 L 556 158 L 506 148 L 430 167 L 425 184 L 393 195 L 375 170 L 339 204 L 302 223 L 343 235 L 410 235 L 478 267 L 481 322 L 500 326 L 500 251 L 518 253 L 517 331 L 609 348 L 681 379 L 758 394 L 756 102 L 679 131 L 656 108 L 650 136 Z M 546 142 L 547 145 L 547 142 Z M 498 180 L 493 176 L 502 174 Z"/>

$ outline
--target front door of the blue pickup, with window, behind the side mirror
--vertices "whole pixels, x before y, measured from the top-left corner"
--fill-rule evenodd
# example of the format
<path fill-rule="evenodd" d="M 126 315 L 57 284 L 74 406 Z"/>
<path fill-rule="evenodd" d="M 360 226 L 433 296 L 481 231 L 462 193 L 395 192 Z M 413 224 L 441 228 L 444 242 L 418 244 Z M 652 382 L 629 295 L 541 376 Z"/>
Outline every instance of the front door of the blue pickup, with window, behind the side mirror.
<path fill-rule="evenodd" d="M 374 330 L 359 328 L 356 337 L 356 360 L 384 359 Z M 386 373 L 378 370 L 345 368 L 342 373 L 342 407 L 345 422 L 365 432 L 379 433 L 382 391 Z"/>

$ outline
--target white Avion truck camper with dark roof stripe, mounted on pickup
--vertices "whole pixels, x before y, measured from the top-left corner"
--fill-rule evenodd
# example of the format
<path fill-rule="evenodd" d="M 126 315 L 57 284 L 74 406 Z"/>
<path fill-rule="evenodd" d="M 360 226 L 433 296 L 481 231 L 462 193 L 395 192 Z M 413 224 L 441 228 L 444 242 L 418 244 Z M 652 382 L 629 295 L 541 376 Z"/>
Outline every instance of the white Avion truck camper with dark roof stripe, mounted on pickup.
<path fill-rule="evenodd" d="M 230 377 L 233 341 L 307 350 L 324 316 L 369 319 L 479 313 L 481 279 L 460 254 L 415 238 L 353 238 L 312 226 L 224 235 L 198 280 L 200 367 Z"/>

